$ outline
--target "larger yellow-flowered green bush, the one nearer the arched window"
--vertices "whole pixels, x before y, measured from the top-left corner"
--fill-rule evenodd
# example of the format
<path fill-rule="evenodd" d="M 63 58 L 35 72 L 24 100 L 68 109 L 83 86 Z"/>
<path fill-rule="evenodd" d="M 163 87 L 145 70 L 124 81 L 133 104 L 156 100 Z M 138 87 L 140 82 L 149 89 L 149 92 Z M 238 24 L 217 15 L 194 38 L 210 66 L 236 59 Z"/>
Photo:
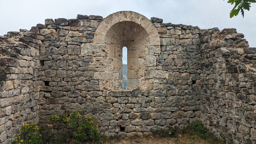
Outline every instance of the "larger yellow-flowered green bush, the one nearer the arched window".
<path fill-rule="evenodd" d="M 76 143 L 84 143 L 91 141 L 93 143 L 100 143 L 100 133 L 97 130 L 98 125 L 93 122 L 93 117 L 82 116 L 81 111 L 75 111 L 60 116 L 54 115 L 50 118 L 50 122 L 60 122 L 75 127 L 73 132 L 73 139 Z"/>

